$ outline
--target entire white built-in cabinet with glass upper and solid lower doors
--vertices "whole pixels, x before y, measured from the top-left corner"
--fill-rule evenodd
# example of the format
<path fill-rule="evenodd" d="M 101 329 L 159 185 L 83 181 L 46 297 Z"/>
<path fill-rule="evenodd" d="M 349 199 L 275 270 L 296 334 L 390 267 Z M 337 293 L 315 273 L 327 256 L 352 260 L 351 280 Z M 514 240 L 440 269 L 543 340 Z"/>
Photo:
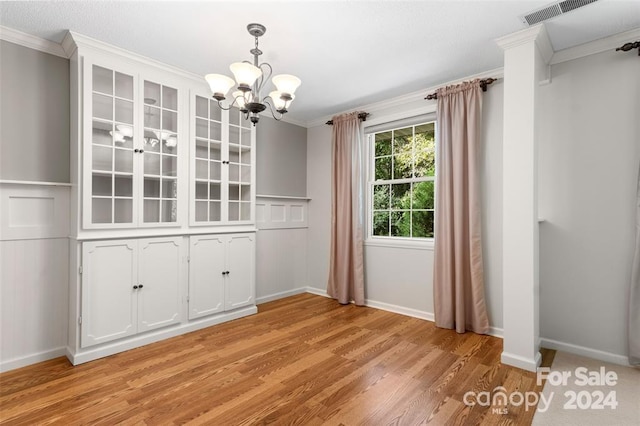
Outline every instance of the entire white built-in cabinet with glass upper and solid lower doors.
<path fill-rule="evenodd" d="M 69 33 L 68 357 L 257 312 L 255 127 L 202 76 Z"/>

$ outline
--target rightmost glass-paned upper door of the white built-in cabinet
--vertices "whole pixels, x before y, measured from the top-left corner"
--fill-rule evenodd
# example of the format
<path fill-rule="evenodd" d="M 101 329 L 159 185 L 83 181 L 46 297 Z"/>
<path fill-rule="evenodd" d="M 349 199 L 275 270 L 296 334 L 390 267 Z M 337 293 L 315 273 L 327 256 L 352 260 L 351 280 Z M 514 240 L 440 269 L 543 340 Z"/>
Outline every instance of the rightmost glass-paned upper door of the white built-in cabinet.
<path fill-rule="evenodd" d="M 252 124 L 237 108 L 229 111 L 229 222 L 251 220 Z"/>

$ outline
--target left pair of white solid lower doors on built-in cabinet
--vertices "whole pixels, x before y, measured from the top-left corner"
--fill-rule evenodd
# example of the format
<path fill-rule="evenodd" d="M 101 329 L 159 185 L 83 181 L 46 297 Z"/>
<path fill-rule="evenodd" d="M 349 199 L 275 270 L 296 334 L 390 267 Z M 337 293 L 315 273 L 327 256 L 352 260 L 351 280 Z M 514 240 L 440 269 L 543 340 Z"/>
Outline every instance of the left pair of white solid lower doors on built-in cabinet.
<path fill-rule="evenodd" d="M 182 240 L 83 243 L 82 347 L 180 322 Z"/>

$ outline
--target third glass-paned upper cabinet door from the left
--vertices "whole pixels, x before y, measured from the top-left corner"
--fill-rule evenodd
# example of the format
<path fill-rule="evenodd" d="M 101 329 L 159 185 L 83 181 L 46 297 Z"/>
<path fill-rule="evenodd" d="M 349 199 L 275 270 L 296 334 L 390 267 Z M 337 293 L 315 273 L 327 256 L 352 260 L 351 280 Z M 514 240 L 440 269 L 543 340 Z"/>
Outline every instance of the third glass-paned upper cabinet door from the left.
<path fill-rule="evenodd" d="M 196 223 L 222 221 L 222 110 L 217 101 L 195 97 L 195 147 L 192 167 L 195 173 L 193 208 Z"/>

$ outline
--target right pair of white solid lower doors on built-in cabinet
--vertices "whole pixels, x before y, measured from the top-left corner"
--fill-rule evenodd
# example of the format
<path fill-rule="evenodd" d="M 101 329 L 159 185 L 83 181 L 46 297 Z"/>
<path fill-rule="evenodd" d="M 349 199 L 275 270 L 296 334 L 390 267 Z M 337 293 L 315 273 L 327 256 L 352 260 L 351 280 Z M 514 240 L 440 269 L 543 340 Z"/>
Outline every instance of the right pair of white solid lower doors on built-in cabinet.
<path fill-rule="evenodd" d="M 189 319 L 255 303 L 255 234 L 191 236 Z"/>

